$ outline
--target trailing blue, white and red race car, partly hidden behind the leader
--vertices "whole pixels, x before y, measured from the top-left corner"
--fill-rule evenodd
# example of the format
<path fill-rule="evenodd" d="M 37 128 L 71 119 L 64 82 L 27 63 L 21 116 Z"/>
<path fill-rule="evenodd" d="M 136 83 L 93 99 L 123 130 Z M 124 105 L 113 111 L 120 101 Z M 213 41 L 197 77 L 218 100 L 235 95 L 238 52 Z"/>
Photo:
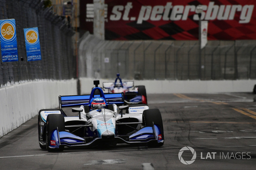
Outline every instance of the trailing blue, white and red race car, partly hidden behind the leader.
<path fill-rule="evenodd" d="M 116 76 L 114 83 L 103 82 L 103 89 L 107 89 L 109 93 L 124 92 L 124 102 L 126 104 L 148 104 L 144 85 L 134 86 L 133 81 L 122 82 L 122 79 L 119 78 L 120 74 L 117 73 Z"/>

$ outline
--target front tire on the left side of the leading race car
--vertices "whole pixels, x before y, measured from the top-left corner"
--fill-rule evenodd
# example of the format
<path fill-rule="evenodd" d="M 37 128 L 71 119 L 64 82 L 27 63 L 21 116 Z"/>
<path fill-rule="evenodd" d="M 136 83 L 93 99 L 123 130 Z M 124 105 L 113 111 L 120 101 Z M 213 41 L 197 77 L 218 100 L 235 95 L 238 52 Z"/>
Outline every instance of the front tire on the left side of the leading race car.
<path fill-rule="evenodd" d="M 64 116 L 61 114 L 50 114 L 47 116 L 46 119 L 46 149 L 48 152 L 53 152 L 53 151 L 63 151 L 64 146 L 60 146 L 59 148 L 49 148 L 49 143 L 50 143 L 50 135 L 53 130 L 59 129 L 59 131 L 65 130 L 65 120 Z"/>

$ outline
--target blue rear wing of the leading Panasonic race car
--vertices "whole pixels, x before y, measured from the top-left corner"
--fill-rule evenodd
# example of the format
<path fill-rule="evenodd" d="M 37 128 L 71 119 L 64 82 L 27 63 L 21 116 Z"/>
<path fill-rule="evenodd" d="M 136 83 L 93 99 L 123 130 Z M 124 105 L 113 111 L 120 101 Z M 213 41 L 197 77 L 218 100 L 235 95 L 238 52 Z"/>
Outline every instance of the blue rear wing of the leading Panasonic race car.
<path fill-rule="evenodd" d="M 124 93 L 109 93 L 104 94 L 107 104 L 124 104 Z M 100 97 L 100 95 L 94 95 L 94 97 Z M 88 105 L 90 100 L 90 94 L 88 95 L 72 95 L 72 96 L 59 96 L 59 106 L 62 107 L 74 107 L 81 105 Z"/>

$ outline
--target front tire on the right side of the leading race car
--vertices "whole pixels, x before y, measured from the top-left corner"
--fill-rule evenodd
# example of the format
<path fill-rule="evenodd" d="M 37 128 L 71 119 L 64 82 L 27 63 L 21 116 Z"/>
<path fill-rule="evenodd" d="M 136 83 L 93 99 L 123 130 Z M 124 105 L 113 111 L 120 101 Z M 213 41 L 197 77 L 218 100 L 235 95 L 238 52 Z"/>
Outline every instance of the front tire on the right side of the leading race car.
<path fill-rule="evenodd" d="M 151 126 L 153 127 L 153 122 L 154 124 L 159 125 L 161 134 L 162 134 L 162 139 L 164 140 L 164 126 L 163 126 L 163 120 L 161 113 L 159 109 L 147 109 L 144 110 L 142 113 L 142 122 L 145 126 Z M 149 143 L 148 146 L 150 147 L 159 147 L 163 146 L 164 142 L 162 143 Z"/>

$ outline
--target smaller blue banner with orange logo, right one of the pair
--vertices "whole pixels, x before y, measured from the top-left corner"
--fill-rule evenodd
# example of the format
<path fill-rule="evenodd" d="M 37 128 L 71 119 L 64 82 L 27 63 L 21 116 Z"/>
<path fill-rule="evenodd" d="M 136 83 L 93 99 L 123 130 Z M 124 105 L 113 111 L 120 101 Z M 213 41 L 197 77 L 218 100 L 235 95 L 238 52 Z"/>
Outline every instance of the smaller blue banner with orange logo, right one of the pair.
<path fill-rule="evenodd" d="M 38 28 L 24 28 L 27 61 L 41 60 L 41 49 Z"/>

